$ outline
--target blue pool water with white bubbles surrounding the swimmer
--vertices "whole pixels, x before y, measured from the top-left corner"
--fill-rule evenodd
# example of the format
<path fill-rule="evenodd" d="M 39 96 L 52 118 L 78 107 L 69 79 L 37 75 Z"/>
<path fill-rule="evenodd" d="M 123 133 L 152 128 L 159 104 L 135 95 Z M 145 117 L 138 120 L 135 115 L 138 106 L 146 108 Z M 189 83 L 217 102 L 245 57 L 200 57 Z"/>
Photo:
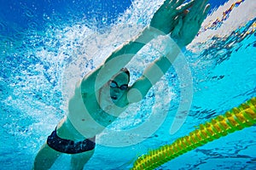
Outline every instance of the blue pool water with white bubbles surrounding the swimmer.
<path fill-rule="evenodd" d="M 142 30 L 162 3 L 106 2 L 1 0 L 0 169 L 32 169 L 40 146 L 66 115 L 74 83 Z M 97 136 L 95 155 L 84 169 L 129 169 L 137 156 L 171 144 L 256 96 L 256 1 L 210 3 L 212 10 L 195 41 L 146 99 Z M 161 42 L 127 65 L 131 82 L 155 59 L 157 44 Z M 121 133 L 114 136 L 116 132 Z M 253 126 L 158 169 L 256 169 L 255 150 Z M 61 156 L 52 169 L 68 169 L 69 161 L 70 156 Z"/>

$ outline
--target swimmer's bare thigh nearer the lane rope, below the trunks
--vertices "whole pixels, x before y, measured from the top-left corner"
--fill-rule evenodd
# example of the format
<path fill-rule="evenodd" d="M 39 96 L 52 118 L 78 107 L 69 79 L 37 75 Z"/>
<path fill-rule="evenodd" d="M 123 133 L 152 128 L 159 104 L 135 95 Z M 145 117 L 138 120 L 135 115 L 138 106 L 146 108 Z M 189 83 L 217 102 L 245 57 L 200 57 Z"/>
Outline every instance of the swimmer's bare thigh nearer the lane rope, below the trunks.
<path fill-rule="evenodd" d="M 90 160 L 90 157 L 93 155 L 94 150 L 85 151 L 79 154 L 73 154 L 71 157 L 71 169 L 82 170 L 84 164 Z"/>

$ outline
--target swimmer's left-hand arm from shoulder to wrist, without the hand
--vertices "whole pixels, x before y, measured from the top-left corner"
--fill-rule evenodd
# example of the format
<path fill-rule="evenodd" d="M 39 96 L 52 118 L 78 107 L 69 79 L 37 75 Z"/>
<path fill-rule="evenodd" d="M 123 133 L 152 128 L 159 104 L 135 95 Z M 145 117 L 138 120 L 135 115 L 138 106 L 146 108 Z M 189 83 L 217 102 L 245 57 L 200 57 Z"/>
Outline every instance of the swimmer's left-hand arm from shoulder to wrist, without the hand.
<path fill-rule="evenodd" d="M 82 92 L 84 94 L 94 93 L 95 90 L 101 88 L 113 75 L 125 67 L 146 43 L 159 35 L 160 31 L 154 31 L 148 26 L 137 37 L 125 42 L 113 51 L 102 65 L 83 78 L 81 82 Z"/>

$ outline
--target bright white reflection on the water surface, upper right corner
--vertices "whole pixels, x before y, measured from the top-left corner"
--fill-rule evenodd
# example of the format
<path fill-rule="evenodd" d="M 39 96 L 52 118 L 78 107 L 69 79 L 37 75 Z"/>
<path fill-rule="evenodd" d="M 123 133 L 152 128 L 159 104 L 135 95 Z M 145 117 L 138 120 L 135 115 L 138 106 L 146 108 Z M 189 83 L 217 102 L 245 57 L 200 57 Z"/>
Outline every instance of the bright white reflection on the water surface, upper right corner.
<path fill-rule="evenodd" d="M 229 37 L 233 31 L 245 26 L 249 20 L 255 18 L 256 2 L 237 2 L 236 0 L 230 0 L 213 11 L 204 20 L 200 36 L 196 37 L 193 42 L 206 42 L 212 37 Z M 189 44 L 189 47 L 193 46 L 193 42 Z M 195 47 L 193 46 L 193 48 Z M 206 45 L 205 48 L 209 48 L 209 46 Z"/>

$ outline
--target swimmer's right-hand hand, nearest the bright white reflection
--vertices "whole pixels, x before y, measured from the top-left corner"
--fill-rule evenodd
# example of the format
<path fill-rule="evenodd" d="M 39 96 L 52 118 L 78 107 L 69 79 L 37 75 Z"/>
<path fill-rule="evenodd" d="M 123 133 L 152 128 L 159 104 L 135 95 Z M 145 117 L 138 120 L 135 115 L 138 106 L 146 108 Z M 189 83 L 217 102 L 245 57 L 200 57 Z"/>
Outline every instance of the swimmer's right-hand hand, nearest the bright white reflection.
<path fill-rule="evenodd" d="M 171 33 L 171 37 L 176 40 L 180 48 L 188 45 L 198 33 L 201 23 L 207 17 L 210 5 L 208 0 L 195 0 L 193 6 L 187 11 L 187 14 L 180 16 Z"/>

